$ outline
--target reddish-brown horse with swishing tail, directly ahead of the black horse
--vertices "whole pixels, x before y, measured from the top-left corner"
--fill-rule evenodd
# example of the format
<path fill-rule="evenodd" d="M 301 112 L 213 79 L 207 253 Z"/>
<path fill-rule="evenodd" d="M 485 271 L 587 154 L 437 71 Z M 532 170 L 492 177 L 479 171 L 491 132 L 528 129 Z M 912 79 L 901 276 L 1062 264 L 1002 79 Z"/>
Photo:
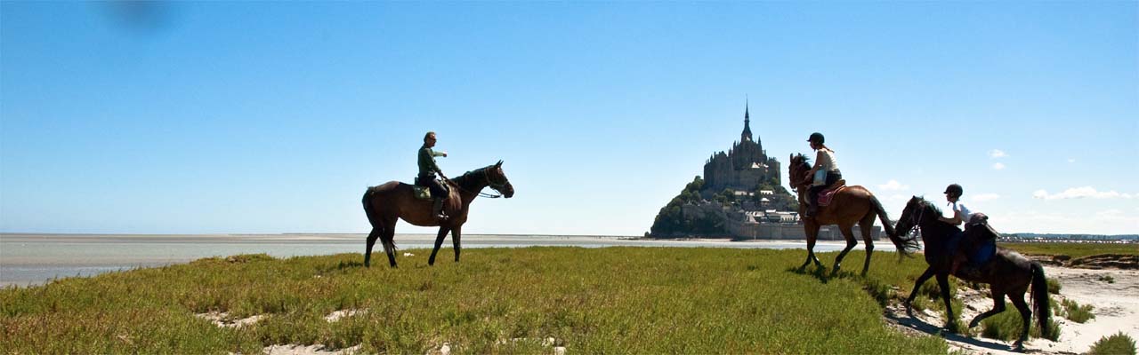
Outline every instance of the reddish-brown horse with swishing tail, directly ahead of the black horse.
<path fill-rule="evenodd" d="M 802 154 L 792 155 L 787 168 L 792 190 L 798 192 L 798 214 L 802 216 L 803 209 L 806 208 L 806 190 L 814 178 L 806 174 L 811 170 L 811 160 Z M 882 221 L 883 229 L 890 236 L 890 241 L 898 247 L 901 255 L 908 255 L 917 249 L 917 241 L 903 239 L 894 233 L 894 226 L 886 217 L 886 210 L 882 208 L 878 198 L 874 197 L 874 193 L 870 193 L 866 188 L 853 185 L 836 192 L 830 205 L 820 207 L 814 216 L 803 218 L 803 229 L 806 232 L 806 261 L 800 269 L 806 267 L 812 261 L 814 265 L 822 267 L 822 263 L 814 256 L 814 241 L 819 237 L 819 228 L 827 224 L 838 224 L 843 238 L 846 238 L 846 248 L 838 253 L 838 257 L 835 258 L 835 267 L 830 271 L 831 274 L 837 273 L 842 267 L 843 257 L 846 257 L 846 253 L 850 253 L 858 245 L 852 231 L 854 223 L 858 223 L 859 229 L 862 230 L 862 241 L 866 242 L 866 262 L 862 263 L 862 275 L 866 275 L 870 269 L 870 254 L 874 253 L 874 238 L 870 236 L 870 229 L 874 226 L 875 217 Z"/>

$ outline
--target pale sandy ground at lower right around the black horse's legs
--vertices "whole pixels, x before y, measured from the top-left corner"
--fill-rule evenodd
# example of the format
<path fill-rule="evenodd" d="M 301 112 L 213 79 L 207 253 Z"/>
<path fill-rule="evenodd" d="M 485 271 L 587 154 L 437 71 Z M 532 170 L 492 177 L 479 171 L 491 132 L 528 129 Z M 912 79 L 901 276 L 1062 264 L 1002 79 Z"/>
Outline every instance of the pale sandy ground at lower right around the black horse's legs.
<path fill-rule="evenodd" d="M 1101 337 L 1117 332 L 1139 339 L 1139 271 L 1137 270 L 1088 270 L 1068 267 L 1044 267 L 1044 274 L 1060 283 L 1060 295 L 1052 299 L 1071 299 L 1080 305 L 1095 307 L 1096 315 L 1084 323 L 1076 323 L 1055 316 L 1060 324 L 1059 341 L 1030 338 L 1025 342 L 1025 353 L 1030 354 L 1083 354 Z M 1105 275 L 1114 279 L 1114 283 L 1101 280 Z M 933 280 L 927 282 L 935 282 Z M 909 290 L 903 290 L 909 292 Z M 968 324 L 975 315 L 989 311 L 993 302 L 988 291 L 959 291 L 957 297 L 965 303 L 960 320 Z M 939 300 L 940 302 L 940 300 Z M 1011 303 L 1006 303 L 1009 308 Z M 966 354 L 1021 354 L 1013 350 L 1013 341 L 1001 341 L 977 337 L 943 333 L 944 315 L 932 311 L 915 311 L 907 315 L 900 305 L 891 305 L 886 309 L 886 320 L 899 329 L 910 333 L 940 335 L 949 342 L 950 348 Z M 1035 320 L 1033 320 L 1035 322 Z M 980 325 L 973 329 L 980 332 Z"/>

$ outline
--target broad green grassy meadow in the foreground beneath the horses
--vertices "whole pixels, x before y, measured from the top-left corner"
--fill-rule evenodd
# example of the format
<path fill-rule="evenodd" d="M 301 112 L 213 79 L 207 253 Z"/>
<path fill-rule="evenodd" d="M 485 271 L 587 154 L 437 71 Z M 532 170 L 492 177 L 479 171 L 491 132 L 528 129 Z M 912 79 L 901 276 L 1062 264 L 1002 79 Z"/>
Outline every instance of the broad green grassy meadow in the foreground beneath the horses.
<path fill-rule="evenodd" d="M 546 353 L 547 338 L 575 353 L 947 352 L 942 339 L 883 322 L 890 289 L 908 289 L 925 267 L 890 253 L 862 278 L 796 271 L 803 250 L 468 249 L 457 264 L 444 249 L 434 267 L 428 250 L 404 251 L 416 256 L 400 269 L 364 269 L 360 254 L 243 255 L 2 289 L 5 352 L 256 354 L 319 344 L 423 354 L 448 342 L 461 354 Z M 851 253 L 847 267 L 861 259 Z M 349 309 L 360 312 L 325 319 Z M 223 328 L 195 315 L 210 312 L 263 317 Z"/>

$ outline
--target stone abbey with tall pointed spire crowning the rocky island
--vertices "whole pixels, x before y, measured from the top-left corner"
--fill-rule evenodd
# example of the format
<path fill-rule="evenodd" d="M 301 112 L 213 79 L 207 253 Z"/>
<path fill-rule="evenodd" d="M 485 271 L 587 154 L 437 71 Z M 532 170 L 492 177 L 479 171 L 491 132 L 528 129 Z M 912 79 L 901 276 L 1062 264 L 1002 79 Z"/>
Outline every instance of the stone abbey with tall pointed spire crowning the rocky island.
<path fill-rule="evenodd" d="M 704 164 L 702 190 L 711 193 L 723 189 L 754 191 L 762 182 L 779 185 L 779 162 L 768 157 L 759 135 L 752 135 L 752 117 L 745 105 L 744 132 L 739 134 L 739 141 L 732 143 L 727 154 L 713 154 Z"/>

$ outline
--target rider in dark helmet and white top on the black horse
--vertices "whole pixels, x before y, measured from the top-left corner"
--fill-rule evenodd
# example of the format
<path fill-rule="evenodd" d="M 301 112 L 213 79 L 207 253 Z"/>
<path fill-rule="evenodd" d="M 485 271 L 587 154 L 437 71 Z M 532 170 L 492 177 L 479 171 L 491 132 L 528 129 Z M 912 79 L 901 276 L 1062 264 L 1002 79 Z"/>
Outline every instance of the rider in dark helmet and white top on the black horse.
<path fill-rule="evenodd" d="M 965 262 L 982 262 L 989 259 L 992 253 L 995 253 L 995 233 L 982 233 L 988 231 L 988 220 L 989 217 L 981 213 L 973 213 L 965 203 L 961 201 L 961 195 L 965 195 L 965 189 L 959 184 L 950 184 L 945 187 L 945 200 L 949 201 L 950 209 L 953 210 L 952 217 L 937 216 L 937 220 L 952 225 L 961 225 L 965 223 L 965 230 L 961 232 L 961 240 L 958 242 L 957 253 L 952 256 L 952 265 L 949 269 L 950 273 L 957 272 L 957 269 L 961 266 Z M 978 224 L 984 224 L 985 226 L 976 228 Z M 984 234 L 984 236 L 977 236 Z M 981 249 L 984 250 L 981 250 Z M 985 255 L 977 255 L 981 250 Z"/>

